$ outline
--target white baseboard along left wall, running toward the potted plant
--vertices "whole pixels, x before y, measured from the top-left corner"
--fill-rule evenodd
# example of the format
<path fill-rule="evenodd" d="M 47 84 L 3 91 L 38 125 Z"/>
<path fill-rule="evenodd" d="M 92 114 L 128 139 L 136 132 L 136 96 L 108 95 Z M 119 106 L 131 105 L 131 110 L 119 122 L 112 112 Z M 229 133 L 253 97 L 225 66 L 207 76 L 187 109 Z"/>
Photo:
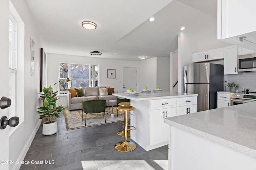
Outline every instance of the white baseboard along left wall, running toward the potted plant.
<path fill-rule="evenodd" d="M 23 147 L 22 152 L 21 152 L 18 160 L 24 160 L 24 158 L 25 158 L 25 156 L 26 156 L 26 154 L 28 152 L 28 149 L 29 149 L 29 147 L 30 147 L 34 137 L 36 136 L 36 132 L 38 131 L 41 123 L 42 123 L 42 119 L 39 119 L 38 123 L 36 124 L 36 128 L 32 131 L 32 133 L 31 133 L 31 135 L 30 135 L 26 145 Z M 14 170 L 20 169 L 20 166 L 21 166 L 21 164 L 14 164 L 13 169 Z"/>

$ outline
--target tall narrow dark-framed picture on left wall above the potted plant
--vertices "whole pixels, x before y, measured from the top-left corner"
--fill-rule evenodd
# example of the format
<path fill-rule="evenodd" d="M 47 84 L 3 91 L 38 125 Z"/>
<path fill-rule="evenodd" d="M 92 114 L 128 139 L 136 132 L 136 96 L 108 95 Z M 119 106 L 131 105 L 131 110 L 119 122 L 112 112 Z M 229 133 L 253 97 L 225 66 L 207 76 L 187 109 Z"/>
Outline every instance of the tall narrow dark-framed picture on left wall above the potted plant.
<path fill-rule="evenodd" d="M 46 86 L 46 54 L 44 49 L 40 49 L 40 92 Z"/>

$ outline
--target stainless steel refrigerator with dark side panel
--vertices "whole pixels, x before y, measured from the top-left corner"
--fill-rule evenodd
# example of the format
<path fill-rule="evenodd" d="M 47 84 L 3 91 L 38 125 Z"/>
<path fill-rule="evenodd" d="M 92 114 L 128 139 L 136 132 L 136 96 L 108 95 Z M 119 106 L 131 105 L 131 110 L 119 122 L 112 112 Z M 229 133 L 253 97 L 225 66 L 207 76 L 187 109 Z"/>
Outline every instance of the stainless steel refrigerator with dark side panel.
<path fill-rule="evenodd" d="M 184 66 L 184 92 L 198 94 L 197 111 L 217 108 L 217 91 L 223 91 L 223 65 L 196 63 Z"/>

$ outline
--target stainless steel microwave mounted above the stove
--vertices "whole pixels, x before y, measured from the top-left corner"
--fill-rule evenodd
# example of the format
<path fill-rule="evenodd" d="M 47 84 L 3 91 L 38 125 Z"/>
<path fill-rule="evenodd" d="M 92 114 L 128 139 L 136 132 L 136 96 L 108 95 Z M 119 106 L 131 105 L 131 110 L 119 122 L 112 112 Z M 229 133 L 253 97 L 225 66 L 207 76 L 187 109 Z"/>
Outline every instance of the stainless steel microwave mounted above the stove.
<path fill-rule="evenodd" d="M 238 72 L 256 71 L 256 53 L 247 55 L 238 55 Z"/>

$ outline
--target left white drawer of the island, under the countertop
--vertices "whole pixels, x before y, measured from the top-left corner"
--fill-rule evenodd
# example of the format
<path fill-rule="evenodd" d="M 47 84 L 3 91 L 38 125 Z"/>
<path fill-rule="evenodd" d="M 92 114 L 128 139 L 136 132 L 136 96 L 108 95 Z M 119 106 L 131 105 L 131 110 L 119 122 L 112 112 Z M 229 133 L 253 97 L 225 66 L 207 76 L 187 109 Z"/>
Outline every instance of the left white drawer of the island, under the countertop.
<path fill-rule="evenodd" d="M 170 108 L 176 107 L 177 100 L 175 99 L 160 99 L 160 100 L 151 100 L 150 101 L 150 109 L 161 109 L 161 108 Z"/>

